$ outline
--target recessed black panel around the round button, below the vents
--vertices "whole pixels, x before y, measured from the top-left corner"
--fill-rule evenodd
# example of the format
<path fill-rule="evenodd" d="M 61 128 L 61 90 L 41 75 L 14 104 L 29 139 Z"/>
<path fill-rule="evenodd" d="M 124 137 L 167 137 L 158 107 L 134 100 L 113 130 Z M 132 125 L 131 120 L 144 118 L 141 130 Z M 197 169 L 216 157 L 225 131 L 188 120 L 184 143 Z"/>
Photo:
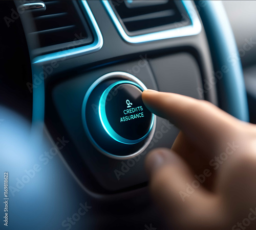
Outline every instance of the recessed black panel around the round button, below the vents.
<path fill-rule="evenodd" d="M 53 106 L 57 109 L 61 123 L 66 128 L 67 135 L 70 135 L 72 142 L 76 146 L 76 149 L 72 151 L 72 156 L 79 155 L 83 159 L 87 167 L 90 168 L 95 180 L 105 190 L 117 191 L 145 183 L 147 177 L 143 164 L 146 153 L 155 147 L 171 147 L 178 130 L 168 121 L 158 117 L 153 140 L 141 155 L 130 160 L 114 160 L 103 156 L 90 143 L 84 132 L 81 119 L 84 94 L 96 79 L 109 72 L 127 72 L 136 69 L 136 73 L 133 72 L 133 74 L 147 88 L 200 98 L 197 89 L 197 87 L 201 87 L 200 70 L 197 62 L 190 54 L 180 53 L 150 58 L 140 68 L 134 68 L 138 66 L 140 61 L 141 59 L 101 67 L 97 70 L 82 73 L 53 88 Z M 186 84 L 183 84 L 184 82 Z M 168 87 L 165 87 L 165 85 L 168 85 Z M 50 120 L 54 115 L 51 111 L 47 113 L 47 116 L 50 116 L 48 117 Z M 72 156 L 69 155 L 71 154 L 67 153 L 65 155 L 69 159 L 68 162 L 72 161 Z M 79 175 L 77 176 L 79 177 Z M 87 178 L 84 178 L 82 183 L 86 185 L 90 182 L 88 182 Z M 90 187 L 92 186 L 90 185 Z"/>

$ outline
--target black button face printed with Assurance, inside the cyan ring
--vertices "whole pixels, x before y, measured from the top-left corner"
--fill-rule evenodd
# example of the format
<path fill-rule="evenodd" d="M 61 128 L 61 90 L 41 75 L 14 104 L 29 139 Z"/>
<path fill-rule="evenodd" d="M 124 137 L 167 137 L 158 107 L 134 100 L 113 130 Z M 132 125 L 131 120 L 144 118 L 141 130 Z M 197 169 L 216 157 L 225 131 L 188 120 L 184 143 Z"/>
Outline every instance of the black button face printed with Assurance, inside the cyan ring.
<path fill-rule="evenodd" d="M 129 140 L 140 139 L 150 130 L 152 113 L 144 106 L 141 93 L 131 84 L 115 86 L 109 93 L 112 99 L 105 106 L 113 130 Z"/>

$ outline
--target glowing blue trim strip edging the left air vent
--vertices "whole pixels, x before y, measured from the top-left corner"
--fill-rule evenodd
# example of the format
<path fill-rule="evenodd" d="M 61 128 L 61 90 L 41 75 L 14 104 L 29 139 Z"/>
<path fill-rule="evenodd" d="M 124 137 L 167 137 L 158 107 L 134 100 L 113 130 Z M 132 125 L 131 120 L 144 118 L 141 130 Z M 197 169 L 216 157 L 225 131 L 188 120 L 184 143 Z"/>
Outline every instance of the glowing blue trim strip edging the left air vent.
<path fill-rule="evenodd" d="M 93 16 L 93 13 L 92 13 L 90 7 L 88 6 L 87 1 L 81 1 L 81 3 L 82 3 L 82 6 L 86 10 L 86 12 L 87 12 L 87 14 L 90 18 L 90 20 L 88 20 L 88 23 L 89 23 L 90 28 L 91 28 L 91 30 L 93 32 L 93 35 L 94 35 L 94 42 L 90 45 L 84 45 L 84 46 L 81 46 L 81 47 L 62 50 L 62 51 L 55 52 L 55 53 L 52 53 L 52 54 L 46 54 L 46 55 L 36 57 L 36 58 L 33 59 L 33 63 L 44 63 L 44 62 L 49 62 L 49 61 L 52 61 L 52 60 L 64 61 L 67 58 L 71 58 L 71 57 L 74 57 L 74 56 L 81 56 L 81 55 L 96 52 L 97 50 L 99 50 L 102 47 L 103 38 L 102 38 L 102 35 L 100 33 L 98 24 L 97 24 L 97 22 L 96 22 L 96 20 Z"/>

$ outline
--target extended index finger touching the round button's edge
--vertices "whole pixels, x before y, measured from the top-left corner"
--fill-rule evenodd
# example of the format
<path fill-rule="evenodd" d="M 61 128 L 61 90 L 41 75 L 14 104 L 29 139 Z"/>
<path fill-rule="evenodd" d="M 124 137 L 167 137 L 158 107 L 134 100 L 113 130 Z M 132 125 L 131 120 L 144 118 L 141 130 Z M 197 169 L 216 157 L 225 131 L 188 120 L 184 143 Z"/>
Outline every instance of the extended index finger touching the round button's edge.
<path fill-rule="evenodd" d="M 174 123 L 203 151 L 223 151 L 242 126 L 242 121 L 205 100 L 155 90 L 145 90 L 142 99 L 151 112 Z"/>

